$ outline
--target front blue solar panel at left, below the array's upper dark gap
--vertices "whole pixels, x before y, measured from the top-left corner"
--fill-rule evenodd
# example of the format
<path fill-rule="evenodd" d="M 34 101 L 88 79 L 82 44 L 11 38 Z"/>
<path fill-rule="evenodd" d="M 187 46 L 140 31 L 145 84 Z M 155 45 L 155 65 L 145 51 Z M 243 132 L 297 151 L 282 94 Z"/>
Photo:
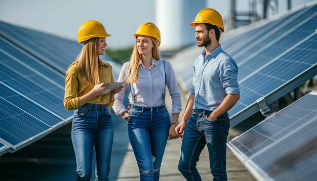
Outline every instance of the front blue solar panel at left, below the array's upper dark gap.
<path fill-rule="evenodd" d="M 16 151 L 72 116 L 63 106 L 64 75 L 0 37 L 0 143 Z"/>

